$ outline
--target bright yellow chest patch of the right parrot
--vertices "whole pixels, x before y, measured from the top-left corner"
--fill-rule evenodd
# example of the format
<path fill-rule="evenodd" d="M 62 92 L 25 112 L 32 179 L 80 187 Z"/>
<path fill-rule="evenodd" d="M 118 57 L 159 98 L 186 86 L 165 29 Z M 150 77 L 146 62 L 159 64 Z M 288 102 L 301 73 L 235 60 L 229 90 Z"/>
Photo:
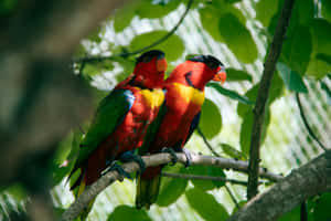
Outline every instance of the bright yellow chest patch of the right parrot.
<path fill-rule="evenodd" d="M 185 86 L 179 83 L 173 83 L 178 94 L 185 99 L 186 103 L 193 103 L 201 106 L 204 102 L 204 92 L 194 87 Z"/>

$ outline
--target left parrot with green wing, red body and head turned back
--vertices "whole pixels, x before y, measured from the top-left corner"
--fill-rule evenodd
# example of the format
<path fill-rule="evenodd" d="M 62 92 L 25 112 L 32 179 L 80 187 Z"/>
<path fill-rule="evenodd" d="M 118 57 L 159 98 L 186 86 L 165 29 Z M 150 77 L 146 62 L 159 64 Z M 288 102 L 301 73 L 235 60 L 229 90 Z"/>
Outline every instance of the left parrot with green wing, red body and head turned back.
<path fill-rule="evenodd" d="M 127 157 L 128 152 L 134 155 L 134 150 L 142 145 L 147 128 L 164 99 L 166 70 L 163 52 L 146 52 L 137 59 L 134 73 L 100 102 L 70 175 L 81 169 L 78 179 L 71 187 L 73 190 L 79 186 L 77 196 L 114 160 Z M 87 210 L 90 208 L 92 204 Z"/>

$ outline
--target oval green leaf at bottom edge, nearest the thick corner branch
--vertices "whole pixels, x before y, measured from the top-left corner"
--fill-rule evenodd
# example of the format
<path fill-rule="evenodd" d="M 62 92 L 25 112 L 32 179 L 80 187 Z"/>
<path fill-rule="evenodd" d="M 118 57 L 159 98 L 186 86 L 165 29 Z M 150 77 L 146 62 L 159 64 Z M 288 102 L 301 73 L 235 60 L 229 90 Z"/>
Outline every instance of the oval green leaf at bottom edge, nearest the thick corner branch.
<path fill-rule="evenodd" d="M 190 206 L 205 220 L 225 221 L 228 218 L 227 211 L 220 204 L 212 194 L 193 188 L 186 191 L 186 199 Z"/>

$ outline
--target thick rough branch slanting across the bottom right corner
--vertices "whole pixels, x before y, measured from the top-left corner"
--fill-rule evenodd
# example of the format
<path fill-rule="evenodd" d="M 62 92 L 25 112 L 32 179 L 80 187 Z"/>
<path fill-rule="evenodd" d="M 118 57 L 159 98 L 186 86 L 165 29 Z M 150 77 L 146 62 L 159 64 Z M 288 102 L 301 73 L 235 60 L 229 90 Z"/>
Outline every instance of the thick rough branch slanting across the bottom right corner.
<path fill-rule="evenodd" d="M 331 151 L 328 150 L 293 170 L 269 190 L 253 198 L 227 221 L 277 220 L 308 198 L 330 191 L 330 189 Z"/>

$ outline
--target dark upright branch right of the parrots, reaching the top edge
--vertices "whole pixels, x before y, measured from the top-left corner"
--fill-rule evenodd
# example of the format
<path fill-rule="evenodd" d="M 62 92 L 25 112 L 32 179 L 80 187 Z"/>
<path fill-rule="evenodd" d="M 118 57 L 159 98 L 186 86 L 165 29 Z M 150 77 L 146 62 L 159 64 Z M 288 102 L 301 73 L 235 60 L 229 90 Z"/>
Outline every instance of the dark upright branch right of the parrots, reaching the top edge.
<path fill-rule="evenodd" d="M 260 135 L 264 125 L 265 107 L 269 95 L 269 88 L 274 76 L 277 60 L 279 57 L 282 41 L 285 39 L 286 30 L 291 17 L 295 0 L 286 0 L 277 23 L 275 35 L 271 42 L 270 51 L 265 62 L 263 77 L 259 83 L 256 105 L 254 107 L 254 123 L 250 136 L 249 147 L 249 172 L 247 198 L 250 199 L 257 194 L 258 190 L 258 168 L 259 168 L 259 147 Z"/>

